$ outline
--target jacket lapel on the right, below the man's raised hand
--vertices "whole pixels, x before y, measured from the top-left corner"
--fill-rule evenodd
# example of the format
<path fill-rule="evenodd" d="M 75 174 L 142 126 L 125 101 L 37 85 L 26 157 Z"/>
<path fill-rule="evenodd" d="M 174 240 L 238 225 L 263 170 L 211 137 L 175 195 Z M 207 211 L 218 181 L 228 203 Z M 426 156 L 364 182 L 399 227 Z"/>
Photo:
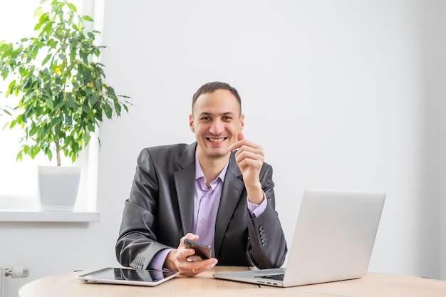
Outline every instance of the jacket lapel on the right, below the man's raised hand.
<path fill-rule="evenodd" d="M 234 152 L 232 152 L 226 176 L 224 177 L 222 197 L 217 212 L 217 221 L 215 222 L 214 248 L 216 255 L 219 254 L 223 235 L 226 232 L 229 220 L 234 213 L 234 209 L 237 207 L 243 189 L 244 183 L 242 181 L 242 172 L 240 172 L 240 169 L 235 162 Z"/>

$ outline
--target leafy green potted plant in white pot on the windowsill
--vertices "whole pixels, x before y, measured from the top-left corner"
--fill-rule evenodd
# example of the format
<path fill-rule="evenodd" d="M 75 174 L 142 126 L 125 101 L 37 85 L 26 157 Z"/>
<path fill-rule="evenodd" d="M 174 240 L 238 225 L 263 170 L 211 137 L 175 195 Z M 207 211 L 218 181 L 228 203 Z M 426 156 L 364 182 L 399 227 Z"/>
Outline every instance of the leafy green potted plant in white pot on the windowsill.
<path fill-rule="evenodd" d="M 120 116 L 123 108 L 128 112 L 128 96 L 116 95 L 105 83 L 105 66 L 97 61 L 105 46 L 95 44 L 99 31 L 85 28 L 85 22 L 93 22 L 90 16 L 81 16 L 75 5 L 57 0 L 51 1 L 47 10 L 39 7 L 35 16 L 36 36 L 15 44 L 0 42 L 1 77 L 9 83 L 1 97 L 14 102 L 13 106 L 0 106 L 0 113 L 12 118 L 4 128 L 20 127 L 24 132 L 16 160 L 23 160 L 24 155 L 34 159 L 44 154 L 50 161 L 56 157 L 57 167 L 52 168 L 69 170 L 72 176 L 76 167 L 61 167 L 61 155 L 74 163 L 105 118 Z M 39 170 L 46 179 L 53 176 L 48 173 L 51 168 Z M 76 179 L 78 184 L 79 177 Z M 58 184 L 60 174 L 51 184 L 53 194 Z M 70 192 L 76 192 L 76 199 L 77 185 Z M 40 196 L 44 198 L 44 194 Z M 56 203 L 50 202 L 58 210 L 72 209 Z"/>

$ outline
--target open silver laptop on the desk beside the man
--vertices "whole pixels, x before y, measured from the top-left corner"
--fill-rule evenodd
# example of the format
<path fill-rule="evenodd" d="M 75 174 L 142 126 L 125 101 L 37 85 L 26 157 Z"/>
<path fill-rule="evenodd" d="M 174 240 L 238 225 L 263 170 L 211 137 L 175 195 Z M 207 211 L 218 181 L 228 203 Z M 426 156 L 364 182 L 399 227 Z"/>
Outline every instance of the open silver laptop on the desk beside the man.
<path fill-rule="evenodd" d="M 269 286 L 301 286 L 367 273 L 385 193 L 304 192 L 285 268 L 214 273 L 215 278 Z"/>

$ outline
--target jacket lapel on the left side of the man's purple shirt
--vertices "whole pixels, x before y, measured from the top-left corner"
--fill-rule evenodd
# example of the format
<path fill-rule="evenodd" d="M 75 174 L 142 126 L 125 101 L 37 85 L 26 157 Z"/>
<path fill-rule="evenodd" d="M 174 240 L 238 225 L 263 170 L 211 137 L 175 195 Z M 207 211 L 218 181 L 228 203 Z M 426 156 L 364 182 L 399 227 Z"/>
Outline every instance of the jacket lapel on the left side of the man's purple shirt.
<path fill-rule="evenodd" d="M 180 207 L 183 233 L 192 231 L 194 217 L 195 195 L 195 149 L 197 142 L 193 143 L 178 159 L 178 165 L 182 168 L 174 172 L 175 188 L 177 189 L 178 206 Z"/>

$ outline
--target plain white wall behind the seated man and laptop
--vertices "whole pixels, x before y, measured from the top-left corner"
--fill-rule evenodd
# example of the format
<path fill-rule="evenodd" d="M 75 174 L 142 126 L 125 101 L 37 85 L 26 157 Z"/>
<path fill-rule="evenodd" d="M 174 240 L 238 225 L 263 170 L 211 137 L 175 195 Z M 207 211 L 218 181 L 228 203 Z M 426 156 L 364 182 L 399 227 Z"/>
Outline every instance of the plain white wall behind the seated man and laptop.
<path fill-rule="evenodd" d="M 135 106 L 100 131 L 100 222 L 0 223 L 2 261 L 32 273 L 7 280 L 7 296 L 118 265 L 138 153 L 193 142 L 192 94 L 212 80 L 242 95 L 289 242 L 304 189 L 385 191 L 370 271 L 446 279 L 445 16 L 443 1 L 422 0 L 105 1 L 108 82 Z"/>

